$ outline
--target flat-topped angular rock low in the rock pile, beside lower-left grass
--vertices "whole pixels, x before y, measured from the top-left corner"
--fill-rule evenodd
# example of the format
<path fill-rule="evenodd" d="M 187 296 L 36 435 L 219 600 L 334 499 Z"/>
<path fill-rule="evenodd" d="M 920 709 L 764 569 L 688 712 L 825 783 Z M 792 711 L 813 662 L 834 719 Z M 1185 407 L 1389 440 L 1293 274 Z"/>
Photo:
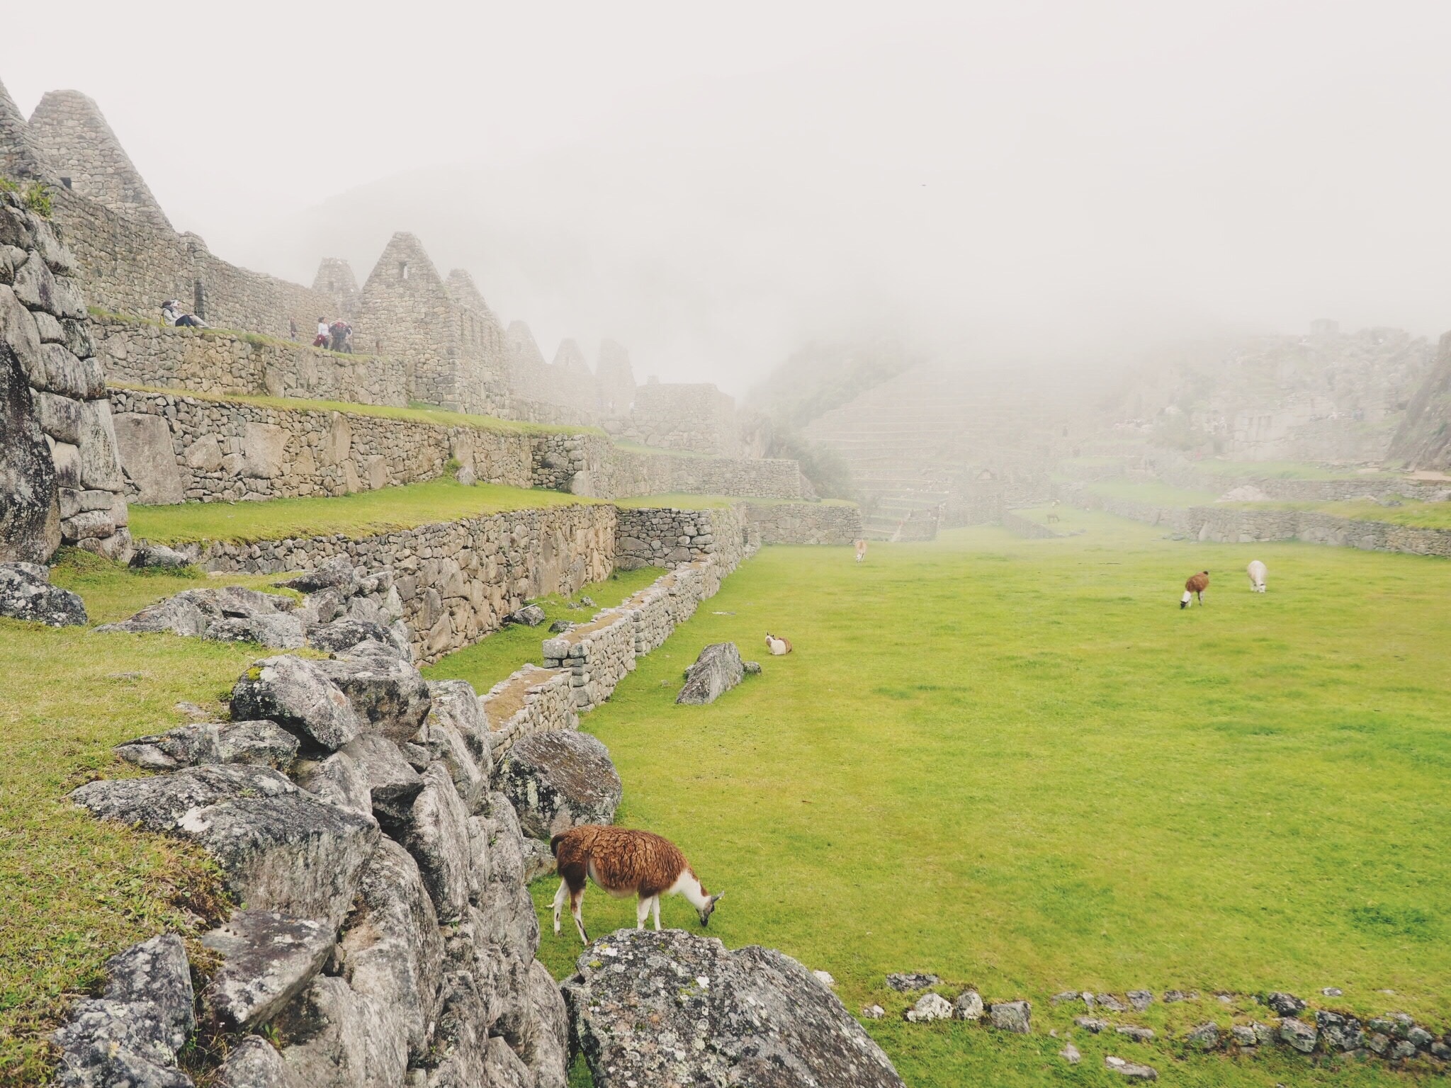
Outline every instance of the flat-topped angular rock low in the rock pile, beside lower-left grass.
<path fill-rule="evenodd" d="M 337 940 L 331 926 L 276 911 L 237 911 L 202 936 L 222 955 L 206 1002 L 234 1031 L 251 1031 L 281 1011 L 322 970 Z"/>

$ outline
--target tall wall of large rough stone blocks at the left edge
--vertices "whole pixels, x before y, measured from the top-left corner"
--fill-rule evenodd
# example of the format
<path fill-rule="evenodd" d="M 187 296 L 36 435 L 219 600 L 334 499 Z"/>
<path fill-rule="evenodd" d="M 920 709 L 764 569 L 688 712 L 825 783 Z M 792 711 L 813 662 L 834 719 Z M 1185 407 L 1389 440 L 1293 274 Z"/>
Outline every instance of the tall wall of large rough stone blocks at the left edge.
<path fill-rule="evenodd" d="M 0 557 L 61 543 L 131 554 L 116 434 L 86 331 L 74 258 L 51 225 L 0 191 Z"/>

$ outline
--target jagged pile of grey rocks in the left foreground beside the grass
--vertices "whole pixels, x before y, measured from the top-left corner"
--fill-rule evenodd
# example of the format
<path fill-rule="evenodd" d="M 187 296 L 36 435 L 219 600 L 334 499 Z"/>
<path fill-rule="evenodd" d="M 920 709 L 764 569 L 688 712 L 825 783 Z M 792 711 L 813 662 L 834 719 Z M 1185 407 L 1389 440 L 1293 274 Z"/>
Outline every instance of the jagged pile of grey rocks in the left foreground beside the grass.
<path fill-rule="evenodd" d="M 241 1043 L 218 1082 L 564 1088 L 563 1000 L 534 960 L 524 838 L 489 792 L 477 696 L 453 680 L 422 688 L 421 718 L 406 699 L 360 712 L 316 669 L 340 662 L 267 659 L 232 705 L 270 717 L 144 737 L 123 747 L 170 773 L 73 794 L 99 817 L 199 843 L 245 904 L 203 937 L 222 957 L 203 1005 L 223 1031 L 270 1024 L 280 1052 Z M 332 750 L 340 722 L 353 735 Z M 296 780 L 237 762 L 277 749 L 302 750 L 277 760 Z M 109 1060 L 115 1079 L 65 1084 L 190 1084 L 174 1062 L 186 1031 L 163 1039 L 158 1017 L 119 1008 L 81 1014 L 58 1037 L 65 1060 Z"/>

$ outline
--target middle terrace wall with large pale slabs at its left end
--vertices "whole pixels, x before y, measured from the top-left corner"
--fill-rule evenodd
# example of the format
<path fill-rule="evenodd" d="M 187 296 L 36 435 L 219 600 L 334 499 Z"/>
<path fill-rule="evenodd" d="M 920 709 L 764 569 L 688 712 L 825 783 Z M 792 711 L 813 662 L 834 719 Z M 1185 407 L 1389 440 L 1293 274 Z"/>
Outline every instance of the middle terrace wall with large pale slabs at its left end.
<path fill-rule="evenodd" d="M 431 480 L 454 458 L 528 487 L 530 437 L 351 412 L 112 389 L 126 487 L 147 505 L 350 495 Z"/>

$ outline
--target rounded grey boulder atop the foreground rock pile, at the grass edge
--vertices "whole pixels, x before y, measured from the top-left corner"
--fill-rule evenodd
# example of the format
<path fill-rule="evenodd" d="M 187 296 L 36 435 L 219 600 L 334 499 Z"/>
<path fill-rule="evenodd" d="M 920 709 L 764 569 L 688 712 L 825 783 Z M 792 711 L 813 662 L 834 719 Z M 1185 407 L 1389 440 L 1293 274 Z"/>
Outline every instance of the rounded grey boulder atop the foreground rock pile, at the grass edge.
<path fill-rule="evenodd" d="M 324 664 L 292 654 L 257 662 L 232 688 L 232 717 L 270 718 L 305 741 L 341 749 L 361 725 Z"/>

